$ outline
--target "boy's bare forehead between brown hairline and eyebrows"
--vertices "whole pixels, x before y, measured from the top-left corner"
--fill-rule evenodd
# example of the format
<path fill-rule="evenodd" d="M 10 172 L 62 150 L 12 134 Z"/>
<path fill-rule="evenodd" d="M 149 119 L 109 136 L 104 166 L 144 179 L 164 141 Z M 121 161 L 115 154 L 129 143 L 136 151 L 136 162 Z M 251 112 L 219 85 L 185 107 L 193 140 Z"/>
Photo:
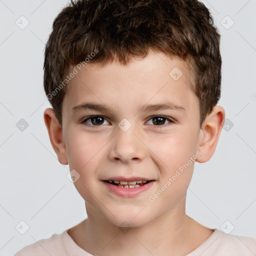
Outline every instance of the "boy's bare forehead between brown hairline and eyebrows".
<path fill-rule="evenodd" d="M 87 63 L 70 66 L 76 74 L 63 99 L 66 110 L 88 101 L 121 110 L 146 103 L 171 102 L 189 108 L 197 99 L 191 89 L 191 74 L 186 62 L 163 53 L 149 53 L 127 65 L 110 62 L 104 66 Z M 63 109 L 64 110 L 64 109 Z"/>

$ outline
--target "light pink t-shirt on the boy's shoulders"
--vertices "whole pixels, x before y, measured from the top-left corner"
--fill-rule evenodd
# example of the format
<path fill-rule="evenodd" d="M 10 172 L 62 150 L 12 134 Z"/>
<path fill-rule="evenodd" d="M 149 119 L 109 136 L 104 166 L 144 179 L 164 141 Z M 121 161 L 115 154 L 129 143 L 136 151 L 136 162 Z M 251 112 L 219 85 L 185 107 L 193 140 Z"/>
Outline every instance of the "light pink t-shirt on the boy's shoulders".
<path fill-rule="evenodd" d="M 66 229 L 60 234 L 53 234 L 47 239 L 25 246 L 14 256 L 92 256 L 79 247 L 67 233 Z M 255 256 L 256 239 L 225 234 L 219 229 L 214 232 L 195 250 L 186 256 Z M 94 255 L 103 255 L 96 251 Z"/>

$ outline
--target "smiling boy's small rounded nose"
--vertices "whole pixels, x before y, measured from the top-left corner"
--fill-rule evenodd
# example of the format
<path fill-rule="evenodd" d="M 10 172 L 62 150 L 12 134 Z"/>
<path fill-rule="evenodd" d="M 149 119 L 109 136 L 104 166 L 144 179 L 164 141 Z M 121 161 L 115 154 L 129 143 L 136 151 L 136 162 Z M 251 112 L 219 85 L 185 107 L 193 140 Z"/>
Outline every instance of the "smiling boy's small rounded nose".
<path fill-rule="evenodd" d="M 123 131 L 117 127 L 115 136 L 111 139 L 111 148 L 108 157 L 111 161 L 141 161 L 145 157 L 145 145 L 138 132 L 131 126 Z"/>

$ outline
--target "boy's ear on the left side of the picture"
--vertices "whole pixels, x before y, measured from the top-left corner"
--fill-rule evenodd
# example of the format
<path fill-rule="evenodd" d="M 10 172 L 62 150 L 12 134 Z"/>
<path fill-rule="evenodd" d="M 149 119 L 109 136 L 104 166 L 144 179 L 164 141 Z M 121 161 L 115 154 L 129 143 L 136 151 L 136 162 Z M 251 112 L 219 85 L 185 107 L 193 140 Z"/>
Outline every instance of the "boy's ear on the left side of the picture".
<path fill-rule="evenodd" d="M 48 130 L 50 143 L 57 154 L 58 161 L 61 164 L 68 164 L 62 128 L 59 125 L 54 110 L 52 108 L 46 108 L 43 113 L 43 118 Z"/>

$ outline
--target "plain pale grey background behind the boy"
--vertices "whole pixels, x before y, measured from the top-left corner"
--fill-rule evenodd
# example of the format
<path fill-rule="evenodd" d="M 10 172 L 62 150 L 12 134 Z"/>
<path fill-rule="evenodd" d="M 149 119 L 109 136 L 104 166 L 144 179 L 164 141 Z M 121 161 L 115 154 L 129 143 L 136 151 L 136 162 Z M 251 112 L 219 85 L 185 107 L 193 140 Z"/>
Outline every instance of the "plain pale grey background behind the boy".
<path fill-rule="evenodd" d="M 0 255 L 13 255 L 86 217 L 43 121 L 50 106 L 42 85 L 44 43 L 67 2 L 0 0 Z M 228 220 L 232 234 L 256 238 L 256 0 L 202 2 L 221 34 L 218 104 L 229 120 L 212 158 L 195 163 L 186 213 L 209 228 L 221 229 Z M 21 15 L 29 21 L 24 29 L 15 23 L 25 24 Z M 23 131 L 17 127 L 21 118 L 28 123 Z M 24 234 L 15 228 L 22 220 L 29 226 Z"/>

